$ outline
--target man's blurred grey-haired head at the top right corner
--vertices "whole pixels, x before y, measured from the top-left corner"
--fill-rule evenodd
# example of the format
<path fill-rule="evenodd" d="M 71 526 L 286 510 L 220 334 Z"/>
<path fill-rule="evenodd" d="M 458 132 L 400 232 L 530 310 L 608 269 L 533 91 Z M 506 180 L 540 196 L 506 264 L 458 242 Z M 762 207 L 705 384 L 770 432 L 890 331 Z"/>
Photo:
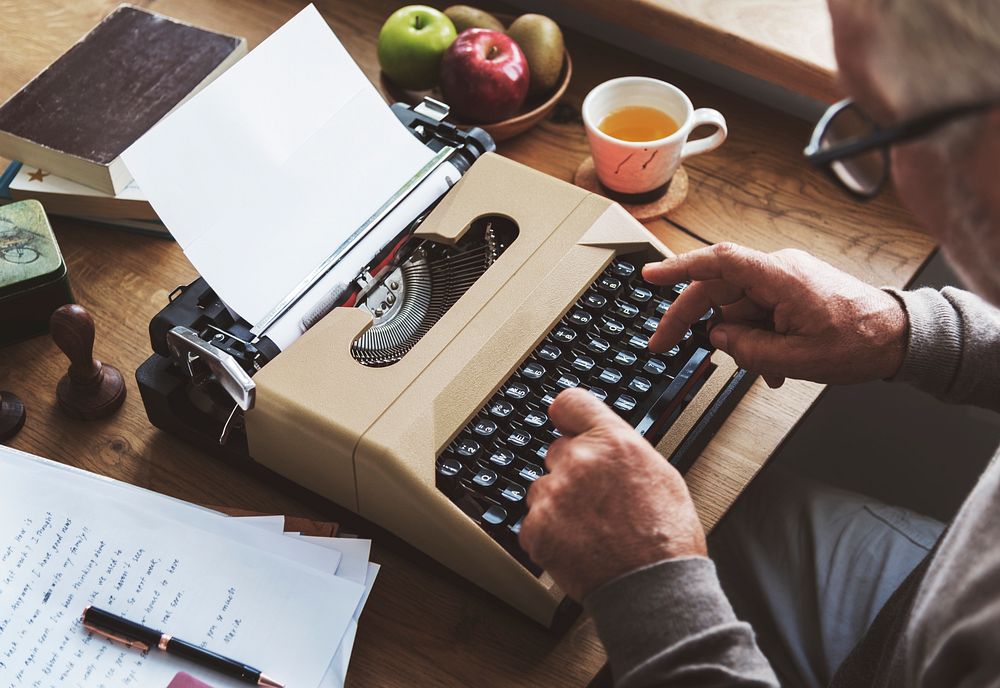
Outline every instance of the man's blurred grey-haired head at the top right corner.
<path fill-rule="evenodd" d="M 997 0 L 829 0 L 842 82 L 883 124 L 1000 99 Z M 1000 305 L 1000 106 L 892 151 L 900 196 Z"/>

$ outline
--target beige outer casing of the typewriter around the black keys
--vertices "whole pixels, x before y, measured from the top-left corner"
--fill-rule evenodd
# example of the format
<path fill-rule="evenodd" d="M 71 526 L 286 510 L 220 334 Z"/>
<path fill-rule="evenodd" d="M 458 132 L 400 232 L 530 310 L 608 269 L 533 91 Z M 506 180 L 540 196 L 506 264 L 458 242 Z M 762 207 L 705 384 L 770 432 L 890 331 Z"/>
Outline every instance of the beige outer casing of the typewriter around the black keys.
<path fill-rule="evenodd" d="M 254 378 L 258 462 L 392 531 L 543 625 L 564 594 L 534 576 L 435 486 L 435 460 L 615 255 L 669 250 L 620 206 L 487 154 L 419 226 L 450 243 L 486 215 L 517 239 L 398 363 L 366 367 L 372 322 L 337 308 Z M 669 455 L 735 366 L 718 366 L 658 445 Z"/>

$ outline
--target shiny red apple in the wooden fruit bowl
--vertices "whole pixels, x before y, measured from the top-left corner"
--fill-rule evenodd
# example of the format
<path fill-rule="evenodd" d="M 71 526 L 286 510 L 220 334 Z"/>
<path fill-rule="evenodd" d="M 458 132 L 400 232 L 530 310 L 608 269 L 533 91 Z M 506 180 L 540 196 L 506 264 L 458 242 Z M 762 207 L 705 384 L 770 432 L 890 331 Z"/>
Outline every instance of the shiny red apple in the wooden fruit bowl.
<path fill-rule="evenodd" d="M 528 95 L 528 60 L 506 34 L 466 29 L 441 60 L 441 92 L 460 119 L 498 122 Z"/>

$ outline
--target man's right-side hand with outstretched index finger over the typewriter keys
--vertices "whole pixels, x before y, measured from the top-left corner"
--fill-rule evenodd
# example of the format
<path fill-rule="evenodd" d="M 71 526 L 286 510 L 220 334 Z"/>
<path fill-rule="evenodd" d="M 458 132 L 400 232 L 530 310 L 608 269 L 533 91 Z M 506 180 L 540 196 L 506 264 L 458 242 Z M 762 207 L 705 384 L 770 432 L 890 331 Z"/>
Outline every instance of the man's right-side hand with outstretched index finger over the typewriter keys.
<path fill-rule="evenodd" d="M 715 310 L 712 344 L 772 387 L 786 377 L 846 384 L 892 377 L 907 321 L 890 294 L 808 253 L 718 244 L 643 268 L 653 284 L 690 281 L 660 320 L 652 351 Z"/>

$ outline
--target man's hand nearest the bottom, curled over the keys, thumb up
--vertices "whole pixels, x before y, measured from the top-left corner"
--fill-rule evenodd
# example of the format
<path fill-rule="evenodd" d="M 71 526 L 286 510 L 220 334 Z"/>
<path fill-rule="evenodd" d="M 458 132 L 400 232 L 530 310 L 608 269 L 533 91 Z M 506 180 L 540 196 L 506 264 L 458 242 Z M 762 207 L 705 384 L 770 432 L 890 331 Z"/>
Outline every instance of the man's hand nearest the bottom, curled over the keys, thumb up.
<path fill-rule="evenodd" d="M 528 490 L 521 546 L 583 600 L 612 578 L 662 559 L 705 555 L 687 485 L 646 440 L 581 389 L 549 406 L 562 437 Z"/>

